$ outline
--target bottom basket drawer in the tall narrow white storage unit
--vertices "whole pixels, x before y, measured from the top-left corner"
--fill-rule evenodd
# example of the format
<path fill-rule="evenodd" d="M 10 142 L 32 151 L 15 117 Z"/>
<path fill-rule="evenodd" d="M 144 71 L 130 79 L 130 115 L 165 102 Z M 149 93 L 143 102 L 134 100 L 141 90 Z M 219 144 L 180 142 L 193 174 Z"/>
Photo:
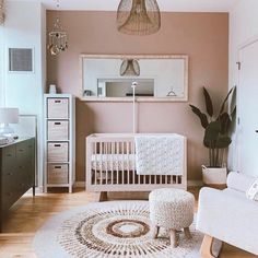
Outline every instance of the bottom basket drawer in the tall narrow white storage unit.
<path fill-rule="evenodd" d="M 68 184 L 68 164 L 49 164 L 47 169 L 47 184 Z"/>

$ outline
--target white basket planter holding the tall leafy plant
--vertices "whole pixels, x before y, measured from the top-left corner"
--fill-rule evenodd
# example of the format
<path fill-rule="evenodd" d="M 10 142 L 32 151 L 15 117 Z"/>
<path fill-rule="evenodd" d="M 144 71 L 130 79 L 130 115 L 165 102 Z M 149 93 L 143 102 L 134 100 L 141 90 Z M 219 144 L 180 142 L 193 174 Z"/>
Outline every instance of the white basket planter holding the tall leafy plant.
<path fill-rule="evenodd" d="M 202 167 L 202 180 L 206 185 L 226 185 L 226 167 Z"/>

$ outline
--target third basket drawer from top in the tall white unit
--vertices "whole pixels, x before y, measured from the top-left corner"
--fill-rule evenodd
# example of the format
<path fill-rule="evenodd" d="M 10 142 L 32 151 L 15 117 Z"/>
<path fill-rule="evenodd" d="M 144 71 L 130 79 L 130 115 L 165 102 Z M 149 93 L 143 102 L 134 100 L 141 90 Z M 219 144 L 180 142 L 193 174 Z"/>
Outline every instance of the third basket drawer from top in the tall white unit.
<path fill-rule="evenodd" d="M 48 143 L 47 144 L 47 161 L 48 162 L 68 162 L 69 151 L 68 142 Z"/>

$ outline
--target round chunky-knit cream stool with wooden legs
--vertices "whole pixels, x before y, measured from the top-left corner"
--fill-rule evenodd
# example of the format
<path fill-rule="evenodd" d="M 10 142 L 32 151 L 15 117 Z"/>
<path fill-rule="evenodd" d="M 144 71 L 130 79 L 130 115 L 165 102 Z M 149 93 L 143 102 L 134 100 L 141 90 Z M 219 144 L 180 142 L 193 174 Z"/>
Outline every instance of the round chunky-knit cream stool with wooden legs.
<path fill-rule="evenodd" d="M 155 237 L 160 227 L 169 230 L 173 247 L 178 245 L 177 231 L 184 228 L 186 237 L 191 237 L 189 226 L 194 221 L 194 195 L 185 190 L 163 188 L 153 190 L 149 201 L 151 222 L 156 227 Z"/>

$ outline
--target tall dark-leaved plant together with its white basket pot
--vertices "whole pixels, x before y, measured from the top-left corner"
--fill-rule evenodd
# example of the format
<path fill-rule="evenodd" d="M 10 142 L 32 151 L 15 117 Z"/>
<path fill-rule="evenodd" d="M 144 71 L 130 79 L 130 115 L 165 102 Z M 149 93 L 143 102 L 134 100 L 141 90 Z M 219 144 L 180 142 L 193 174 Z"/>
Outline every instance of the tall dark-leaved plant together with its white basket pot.
<path fill-rule="evenodd" d="M 202 165 L 202 179 L 206 185 L 222 187 L 226 184 L 225 154 L 232 142 L 230 131 L 236 112 L 235 102 L 231 103 L 230 112 L 227 112 L 226 104 L 231 95 L 235 98 L 235 87 L 232 87 L 216 115 L 206 87 L 203 87 L 206 112 L 202 113 L 198 107 L 190 105 L 191 110 L 199 117 L 204 129 L 203 144 L 209 150 L 209 164 Z"/>

